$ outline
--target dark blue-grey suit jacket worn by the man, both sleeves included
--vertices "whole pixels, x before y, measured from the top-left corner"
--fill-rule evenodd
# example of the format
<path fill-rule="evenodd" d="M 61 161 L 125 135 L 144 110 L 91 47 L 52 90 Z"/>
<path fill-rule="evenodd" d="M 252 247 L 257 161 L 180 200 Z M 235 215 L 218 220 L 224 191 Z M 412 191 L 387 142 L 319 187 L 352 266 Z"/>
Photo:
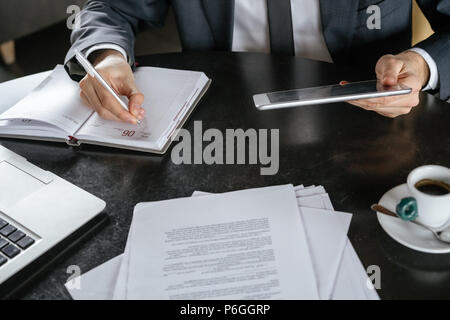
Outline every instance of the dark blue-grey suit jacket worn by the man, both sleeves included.
<path fill-rule="evenodd" d="M 440 96 L 450 96 L 450 0 L 418 0 L 435 34 L 417 44 L 436 61 Z M 134 62 L 134 39 L 142 26 L 160 27 L 172 5 L 183 50 L 230 50 L 233 0 L 98 0 L 81 11 L 81 27 L 72 32 L 66 69 L 76 79 L 83 74 L 73 59 L 98 43 L 123 47 Z M 381 9 L 381 29 L 369 30 L 366 12 Z M 335 63 L 371 68 L 384 54 L 411 47 L 411 0 L 320 0 L 323 33 Z"/>

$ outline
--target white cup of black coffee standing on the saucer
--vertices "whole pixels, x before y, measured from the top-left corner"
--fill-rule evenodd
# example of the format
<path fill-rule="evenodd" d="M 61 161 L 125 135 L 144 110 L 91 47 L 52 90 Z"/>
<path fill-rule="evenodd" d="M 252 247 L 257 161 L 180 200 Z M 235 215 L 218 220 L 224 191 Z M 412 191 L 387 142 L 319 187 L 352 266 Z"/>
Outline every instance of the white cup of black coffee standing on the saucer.
<path fill-rule="evenodd" d="M 450 184 L 450 169 L 443 166 L 426 165 L 411 171 L 407 179 L 409 191 L 417 202 L 418 216 L 416 220 L 432 228 L 439 228 L 450 219 L 450 193 L 444 195 L 424 193 L 415 186 L 422 179 L 432 179 Z"/>

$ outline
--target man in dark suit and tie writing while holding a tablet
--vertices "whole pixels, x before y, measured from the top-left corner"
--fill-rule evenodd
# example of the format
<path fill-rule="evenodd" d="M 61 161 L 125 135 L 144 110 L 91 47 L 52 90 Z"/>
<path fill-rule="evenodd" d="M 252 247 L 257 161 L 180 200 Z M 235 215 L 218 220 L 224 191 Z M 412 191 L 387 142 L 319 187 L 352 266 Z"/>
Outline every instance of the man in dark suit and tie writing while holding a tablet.
<path fill-rule="evenodd" d="M 100 116 L 135 123 L 144 116 L 144 96 L 132 73 L 135 34 L 141 26 L 162 26 L 172 5 L 183 50 L 260 51 L 375 66 L 384 84 L 402 83 L 413 93 L 351 103 L 396 117 L 419 103 L 420 90 L 439 90 L 442 99 L 450 96 L 450 0 L 418 3 L 435 33 L 410 48 L 411 0 L 88 1 L 72 32 L 65 66 L 73 79 L 81 79 L 81 97 Z M 378 10 L 375 25 L 380 28 L 369 26 L 371 9 L 374 14 Z M 129 98 L 130 112 L 85 76 L 74 59 L 75 49 Z"/>

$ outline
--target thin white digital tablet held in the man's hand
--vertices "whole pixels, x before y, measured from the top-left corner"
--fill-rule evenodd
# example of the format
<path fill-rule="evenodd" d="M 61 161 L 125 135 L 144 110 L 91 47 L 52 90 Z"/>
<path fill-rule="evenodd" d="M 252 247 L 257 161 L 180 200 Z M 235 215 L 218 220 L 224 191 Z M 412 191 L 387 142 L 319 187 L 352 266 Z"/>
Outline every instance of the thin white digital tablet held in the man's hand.
<path fill-rule="evenodd" d="M 258 110 L 270 110 L 402 95 L 411 93 L 411 91 L 411 88 L 400 84 L 395 86 L 385 86 L 377 80 L 369 80 L 256 94 L 253 96 L 253 101 Z"/>

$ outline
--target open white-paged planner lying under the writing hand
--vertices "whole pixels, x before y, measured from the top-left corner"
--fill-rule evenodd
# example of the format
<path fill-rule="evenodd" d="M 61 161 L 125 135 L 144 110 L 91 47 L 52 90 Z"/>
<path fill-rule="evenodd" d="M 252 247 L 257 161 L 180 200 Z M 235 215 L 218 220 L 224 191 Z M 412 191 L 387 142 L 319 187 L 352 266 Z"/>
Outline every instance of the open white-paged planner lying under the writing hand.
<path fill-rule="evenodd" d="M 164 153 L 211 80 L 202 72 L 154 67 L 137 68 L 134 75 L 145 96 L 146 114 L 139 125 L 100 118 L 83 103 L 78 83 L 58 65 L 0 114 L 0 136 Z"/>

